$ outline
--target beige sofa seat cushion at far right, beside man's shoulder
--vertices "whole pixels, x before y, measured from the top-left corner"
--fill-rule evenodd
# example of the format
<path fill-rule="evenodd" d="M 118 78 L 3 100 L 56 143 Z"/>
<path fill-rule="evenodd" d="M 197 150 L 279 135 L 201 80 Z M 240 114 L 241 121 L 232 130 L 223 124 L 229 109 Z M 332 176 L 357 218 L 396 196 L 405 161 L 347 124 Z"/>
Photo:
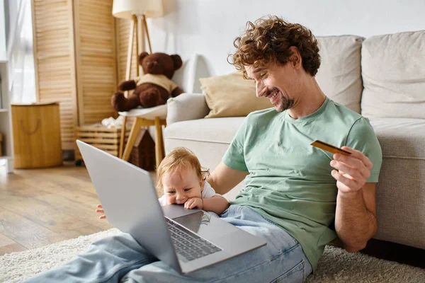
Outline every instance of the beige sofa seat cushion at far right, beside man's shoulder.
<path fill-rule="evenodd" d="M 370 119 L 387 158 L 425 160 L 425 120 L 406 118 Z"/>

